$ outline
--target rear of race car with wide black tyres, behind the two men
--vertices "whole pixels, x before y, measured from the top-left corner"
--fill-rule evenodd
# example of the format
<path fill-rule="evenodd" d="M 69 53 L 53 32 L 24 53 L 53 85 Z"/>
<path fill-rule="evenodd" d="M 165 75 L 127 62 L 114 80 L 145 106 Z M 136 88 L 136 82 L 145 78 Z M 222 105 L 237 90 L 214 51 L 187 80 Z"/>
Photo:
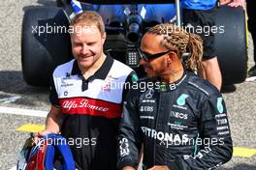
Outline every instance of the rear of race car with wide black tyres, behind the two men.
<path fill-rule="evenodd" d="M 149 27 L 170 21 L 168 18 L 170 16 L 156 11 L 149 20 L 145 19 L 140 14 L 142 4 L 170 5 L 167 3 L 172 3 L 172 1 L 82 0 L 82 9 L 92 10 L 93 5 L 90 3 L 101 7 L 96 11 L 103 16 L 106 24 L 105 51 L 143 76 L 144 71 L 138 66 L 139 57 L 136 50 L 140 46 L 141 37 Z M 35 7 L 27 10 L 24 14 L 21 61 L 23 77 L 29 85 L 48 86 L 49 77 L 54 68 L 72 58 L 69 33 L 49 34 L 47 32 L 48 27 L 69 27 L 70 16 L 73 14 L 71 1 L 58 0 L 57 5 L 59 7 Z M 114 5 L 124 6 L 124 11 L 128 9 L 129 12 L 113 16 L 114 10 L 110 7 Z M 102 8 L 104 6 L 105 8 Z M 179 17 L 177 18 L 179 20 Z M 247 36 L 244 11 L 241 8 L 220 7 L 216 24 L 225 27 L 224 34 L 215 35 L 223 84 L 243 82 L 247 72 Z M 40 28 L 45 28 L 45 32 L 39 35 Z"/>

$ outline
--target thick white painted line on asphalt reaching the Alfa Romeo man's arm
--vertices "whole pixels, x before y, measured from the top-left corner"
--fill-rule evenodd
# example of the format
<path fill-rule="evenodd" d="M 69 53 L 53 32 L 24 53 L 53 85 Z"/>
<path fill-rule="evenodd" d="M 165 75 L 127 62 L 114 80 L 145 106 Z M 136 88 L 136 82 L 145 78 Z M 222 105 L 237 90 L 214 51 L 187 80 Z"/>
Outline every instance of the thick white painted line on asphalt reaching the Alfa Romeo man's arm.
<path fill-rule="evenodd" d="M 0 106 L 0 114 L 23 115 L 23 116 L 34 116 L 34 117 L 46 118 L 48 115 L 48 111 Z"/>

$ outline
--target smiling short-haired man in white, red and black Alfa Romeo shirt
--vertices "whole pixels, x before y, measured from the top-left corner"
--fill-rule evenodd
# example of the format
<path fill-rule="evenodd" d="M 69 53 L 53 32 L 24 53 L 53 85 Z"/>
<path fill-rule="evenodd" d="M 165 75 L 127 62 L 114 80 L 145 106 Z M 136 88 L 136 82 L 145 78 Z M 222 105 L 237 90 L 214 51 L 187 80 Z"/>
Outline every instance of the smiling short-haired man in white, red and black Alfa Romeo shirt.
<path fill-rule="evenodd" d="M 124 84 L 137 75 L 104 53 L 106 32 L 99 14 L 78 14 L 70 28 L 75 59 L 53 71 L 46 129 L 37 136 L 61 133 L 78 169 L 114 170 Z"/>

